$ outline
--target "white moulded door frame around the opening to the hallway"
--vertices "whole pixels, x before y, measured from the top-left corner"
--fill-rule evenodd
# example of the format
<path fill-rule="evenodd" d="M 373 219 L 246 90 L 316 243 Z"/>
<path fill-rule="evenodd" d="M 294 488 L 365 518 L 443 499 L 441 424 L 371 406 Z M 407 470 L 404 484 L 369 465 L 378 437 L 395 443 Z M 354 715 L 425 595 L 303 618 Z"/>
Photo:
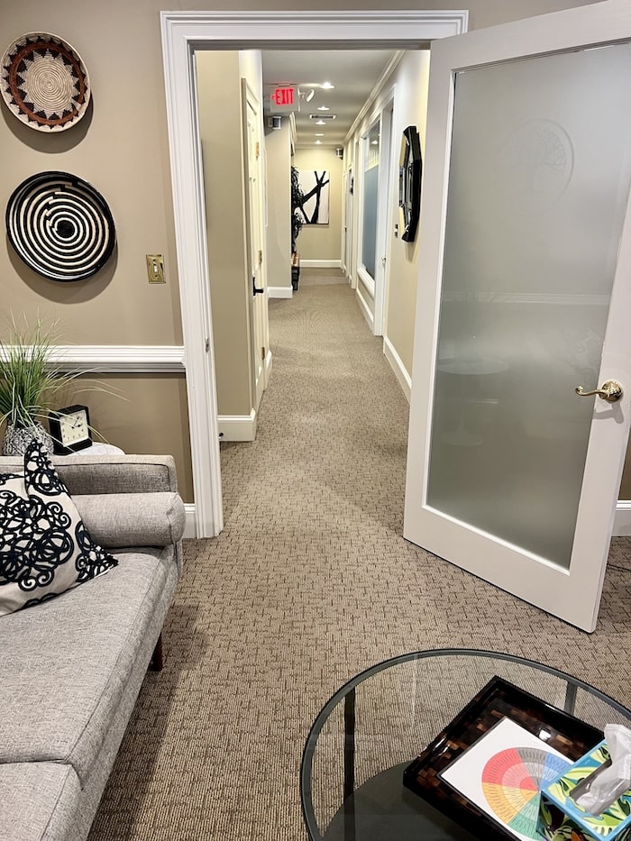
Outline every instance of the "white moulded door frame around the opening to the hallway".
<path fill-rule="evenodd" d="M 412 50 L 467 24 L 466 11 L 160 12 L 197 537 L 224 518 L 195 50 Z"/>

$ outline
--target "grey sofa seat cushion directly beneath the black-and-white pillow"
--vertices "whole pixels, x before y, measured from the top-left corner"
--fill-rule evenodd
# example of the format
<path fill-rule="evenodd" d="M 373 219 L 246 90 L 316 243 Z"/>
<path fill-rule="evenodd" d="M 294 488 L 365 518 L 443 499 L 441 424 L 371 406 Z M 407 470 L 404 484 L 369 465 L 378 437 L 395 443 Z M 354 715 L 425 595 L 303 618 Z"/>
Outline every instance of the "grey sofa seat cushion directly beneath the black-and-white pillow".
<path fill-rule="evenodd" d="M 175 565 L 172 547 L 116 558 L 107 575 L 0 620 L 0 763 L 69 763 L 85 785 Z"/>

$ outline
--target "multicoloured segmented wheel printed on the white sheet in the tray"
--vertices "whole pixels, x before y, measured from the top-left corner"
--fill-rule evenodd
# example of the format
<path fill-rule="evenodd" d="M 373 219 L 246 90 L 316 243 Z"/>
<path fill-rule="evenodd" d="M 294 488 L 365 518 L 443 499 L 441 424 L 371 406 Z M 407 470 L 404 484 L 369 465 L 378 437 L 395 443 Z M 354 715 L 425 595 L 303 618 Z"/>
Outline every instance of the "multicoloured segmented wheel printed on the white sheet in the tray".
<path fill-rule="evenodd" d="M 492 813 L 519 835 L 540 838 L 539 791 L 570 764 L 538 747 L 511 747 L 491 756 L 482 771 L 482 791 Z"/>

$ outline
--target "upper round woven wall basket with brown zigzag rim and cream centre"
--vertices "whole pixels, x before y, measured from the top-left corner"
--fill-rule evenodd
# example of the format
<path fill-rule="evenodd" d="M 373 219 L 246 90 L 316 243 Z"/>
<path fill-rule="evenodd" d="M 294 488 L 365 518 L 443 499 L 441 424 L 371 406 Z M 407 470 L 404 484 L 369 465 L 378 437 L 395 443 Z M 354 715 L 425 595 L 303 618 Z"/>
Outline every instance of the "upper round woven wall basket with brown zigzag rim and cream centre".
<path fill-rule="evenodd" d="M 64 132 L 90 101 L 86 65 L 58 35 L 29 32 L 2 57 L 0 91 L 12 114 L 38 132 Z"/>

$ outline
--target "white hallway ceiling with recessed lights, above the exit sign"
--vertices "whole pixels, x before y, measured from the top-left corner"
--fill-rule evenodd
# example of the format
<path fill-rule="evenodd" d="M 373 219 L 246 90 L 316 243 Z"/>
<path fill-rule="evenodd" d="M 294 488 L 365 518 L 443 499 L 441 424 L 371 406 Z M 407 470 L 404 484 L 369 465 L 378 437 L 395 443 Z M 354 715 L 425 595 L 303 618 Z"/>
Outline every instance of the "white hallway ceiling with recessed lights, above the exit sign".
<path fill-rule="evenodd" d="M 296 114 L 297 146 L 342 146 L 344 138 L 360 113 L 383 70 L 394 56 L 393 50 L 263 50 L 264 113 L 270 114 L 270 90 L 277 85 L 295 85 L 302 92 L 315 89 L 310 102 L 300 101 Z M 334 90 L 323 90 L 331 82 Z M 331 109 L 335 119 L 315 125 L 309 114 L 320 114 L 319 105 Z M 323 133 L 323 137 L 315 137 Z"/>

